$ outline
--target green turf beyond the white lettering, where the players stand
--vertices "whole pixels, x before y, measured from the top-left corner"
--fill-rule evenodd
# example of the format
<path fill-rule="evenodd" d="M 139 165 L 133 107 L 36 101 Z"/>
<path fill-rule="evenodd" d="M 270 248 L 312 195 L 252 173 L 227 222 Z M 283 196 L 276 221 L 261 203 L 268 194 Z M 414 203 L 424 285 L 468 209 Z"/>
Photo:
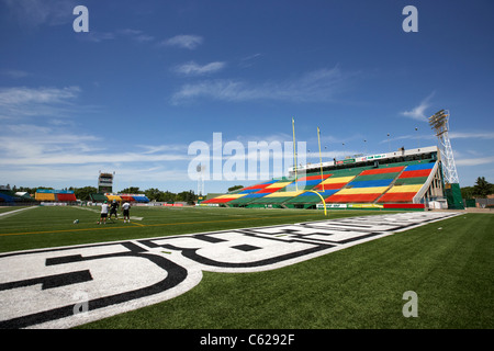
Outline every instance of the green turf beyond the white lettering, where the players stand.
<path fill-rule="evenodd" d="M 124 224 L 109 219 L 97 225 L 98 207 L 38 206 L 0 217 L 0 252 L 372 214 L 375 212 L 337 211 L 325 217 L 323 211 L 146 206 L 131 210 L 131 217 L 142 220 Z M 75 225 L 75 219 L 79 224 Z"/>

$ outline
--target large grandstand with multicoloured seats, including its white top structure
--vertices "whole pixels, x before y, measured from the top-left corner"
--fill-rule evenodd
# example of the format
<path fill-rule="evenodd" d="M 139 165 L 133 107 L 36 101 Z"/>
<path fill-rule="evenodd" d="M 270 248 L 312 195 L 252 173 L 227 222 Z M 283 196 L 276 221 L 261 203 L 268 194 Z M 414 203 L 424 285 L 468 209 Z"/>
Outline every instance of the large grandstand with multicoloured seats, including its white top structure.
<path fill-rule="evenodd" d="M 438 147 L 361 156 L 290 168 L 289 176 L 203 201 L 201 205 L 282 208 L 458 208 L 449 196 Z"/>

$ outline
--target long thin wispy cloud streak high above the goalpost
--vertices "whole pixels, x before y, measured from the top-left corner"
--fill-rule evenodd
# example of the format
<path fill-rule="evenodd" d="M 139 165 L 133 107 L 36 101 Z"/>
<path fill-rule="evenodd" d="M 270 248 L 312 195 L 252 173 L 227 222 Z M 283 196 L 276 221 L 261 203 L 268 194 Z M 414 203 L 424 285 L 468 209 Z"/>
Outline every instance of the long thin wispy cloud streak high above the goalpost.
<path fill-rule="evenodd" d="M 259 84 L 235 79 L 203 80 L 182 86 L 171 103 L 180 104 L 199 98 L 244 102 L 278 100 L 295 102 L 332 101 L 349 78 L 338 67 L 307 72 L 284 81 L 266 81 Z"/>

